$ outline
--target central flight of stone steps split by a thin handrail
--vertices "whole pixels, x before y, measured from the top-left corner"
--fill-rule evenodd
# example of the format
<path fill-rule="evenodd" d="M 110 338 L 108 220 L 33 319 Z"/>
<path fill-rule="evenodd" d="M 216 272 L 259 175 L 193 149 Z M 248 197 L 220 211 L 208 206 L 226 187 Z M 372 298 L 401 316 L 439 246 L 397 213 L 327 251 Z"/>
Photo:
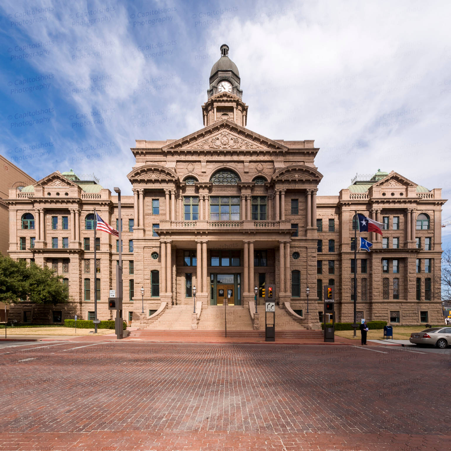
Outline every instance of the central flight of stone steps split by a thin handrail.
<path fill-rule="evenodd" d="M 252 331 L 252 320 L 249 309 L 241 305 L 209 305 L 202 308 L 202 314 L 198 324 L 201 331 L 223 331 L 225 327 L 225 312 L 227 314 L 228 331 Z"/>

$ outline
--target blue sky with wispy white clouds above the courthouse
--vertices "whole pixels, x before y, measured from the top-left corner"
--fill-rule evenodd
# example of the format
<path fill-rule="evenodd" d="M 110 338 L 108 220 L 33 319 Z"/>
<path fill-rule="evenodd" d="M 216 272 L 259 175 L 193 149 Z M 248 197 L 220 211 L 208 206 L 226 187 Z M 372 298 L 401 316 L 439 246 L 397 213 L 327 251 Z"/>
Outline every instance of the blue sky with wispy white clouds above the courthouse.
<path fill-rule="evenodd" d="M 0 153 L 36 179 L 73 168 L 131 194 L 134 140 L 202 128 L 227 43 L 249 129 L 314 139 L 320 195 L 380 168 L 450 197 L 447 1 L 4 0 L 0 13 Z"/>

